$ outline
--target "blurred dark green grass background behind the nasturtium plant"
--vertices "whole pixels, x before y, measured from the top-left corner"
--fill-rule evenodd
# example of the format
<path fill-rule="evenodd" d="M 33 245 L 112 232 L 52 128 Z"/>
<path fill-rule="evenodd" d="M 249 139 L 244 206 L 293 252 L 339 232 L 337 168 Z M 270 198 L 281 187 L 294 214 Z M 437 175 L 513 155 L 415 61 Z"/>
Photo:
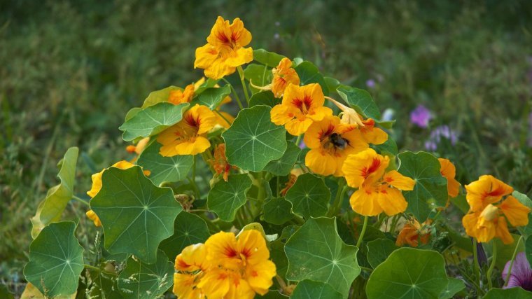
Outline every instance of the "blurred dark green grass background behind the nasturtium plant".
<path fill-rule="evenodd" d="M 22 281 L 29 218 L 66 149 L 80 148 L 83 196 L 126 157 L 127 110 L 202 76 L 194 51 L 218 15 L 244 20 L 253 48 L 369 90 L 401 151 L 449 125 L 458 143 L 437 152 L 459 181 L 493 174 L 531 195 L 531 1 L 0 1 L 0 282 Z M 418 104 L 429 128 L 409 123 Z"/>

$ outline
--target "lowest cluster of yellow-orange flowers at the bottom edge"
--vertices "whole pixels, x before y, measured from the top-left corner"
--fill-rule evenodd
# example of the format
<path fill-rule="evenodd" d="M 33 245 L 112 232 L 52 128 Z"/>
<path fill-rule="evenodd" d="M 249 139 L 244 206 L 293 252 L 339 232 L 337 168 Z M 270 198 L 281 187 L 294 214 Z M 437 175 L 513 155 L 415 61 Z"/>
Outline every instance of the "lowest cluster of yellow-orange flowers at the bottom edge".
<path fill-rule="evenodd" d="M 254 298 L 264 295 L 276 275 L 261 232 L 211 235 L 205 244 L 176 256 L 174 293 L 179 298 Z"/>

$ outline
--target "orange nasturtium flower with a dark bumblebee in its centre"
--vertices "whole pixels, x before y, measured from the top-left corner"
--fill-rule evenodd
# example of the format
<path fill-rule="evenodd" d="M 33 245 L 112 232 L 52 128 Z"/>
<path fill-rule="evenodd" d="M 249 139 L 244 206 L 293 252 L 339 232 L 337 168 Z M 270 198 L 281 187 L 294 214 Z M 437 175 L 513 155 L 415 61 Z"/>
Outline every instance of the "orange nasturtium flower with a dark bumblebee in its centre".
<path fill-rule="evenodd" d="M 363 130 L 362 130 L 363 129 Z M 325 116 L 312 123 L 304 134 L 304 144 L 311 150 L 304 163 L 316 174 L 342 176 L 342 165 L 348 155 L 358 153 L 369 144 L 382 144 L 388 139 L 383 130 L 342 124 L 337 116 Z"/>

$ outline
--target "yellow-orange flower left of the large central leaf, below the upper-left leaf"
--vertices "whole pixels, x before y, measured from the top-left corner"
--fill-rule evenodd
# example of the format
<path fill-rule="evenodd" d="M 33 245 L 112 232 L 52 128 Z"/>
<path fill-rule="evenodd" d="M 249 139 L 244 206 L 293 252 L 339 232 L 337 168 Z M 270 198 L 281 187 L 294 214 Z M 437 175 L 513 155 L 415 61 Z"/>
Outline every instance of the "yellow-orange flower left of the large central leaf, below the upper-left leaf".
<path fill-rule="evenodd" d="M 183 119 L 159 134 L 157 141 L 162 144 L 160 154 L 196 155 L 211 146 L 206 135 L 216 124 L 216 116 L 207 108 L 196 104 L 183 114 Z"/>

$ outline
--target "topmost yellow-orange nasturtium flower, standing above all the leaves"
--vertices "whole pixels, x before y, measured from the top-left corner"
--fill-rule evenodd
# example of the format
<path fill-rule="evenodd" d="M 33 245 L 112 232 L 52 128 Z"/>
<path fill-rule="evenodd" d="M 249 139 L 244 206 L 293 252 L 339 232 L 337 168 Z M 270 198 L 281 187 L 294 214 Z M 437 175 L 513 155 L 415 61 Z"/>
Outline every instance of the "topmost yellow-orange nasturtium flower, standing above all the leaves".
<path fill-rule="evenodd" d="M 215 80 L 233 74 L 236 67 L 253 60 L 253 49 L 244 48 L 250 42 L 251 33 L 239 18 L 229 24 L 218 17 L 207 44 L 196 49 L 194 68 L 205 69 L 205 76 Z"/>

